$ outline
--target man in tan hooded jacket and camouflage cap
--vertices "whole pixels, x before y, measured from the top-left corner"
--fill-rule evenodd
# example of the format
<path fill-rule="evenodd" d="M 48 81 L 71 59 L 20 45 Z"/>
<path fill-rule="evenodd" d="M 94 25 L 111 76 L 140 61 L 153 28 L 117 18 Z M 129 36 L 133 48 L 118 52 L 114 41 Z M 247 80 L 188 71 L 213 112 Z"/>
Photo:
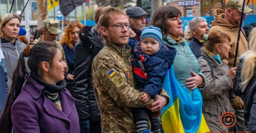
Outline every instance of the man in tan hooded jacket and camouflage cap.
<path fill-rule="evenodd" d="M 238 39 L 238 31 L 241 19 L 241 12 L 242 12 L 243 0 L 228 0 L 226 2 L 226 10 L 222 9 L 215 9 L 214 20 L 210 23 L 210 30 L 208 34 L 214 31 L 221 31 L 230 35 L 230 47 L 228 58 L 223 60 L 229 66 L 229 68 L 233 68 L 234 64 L 234 56 L 237 47 L 237 39 Z M 253 12 L 252 9 L 248 8 L 247 4 L 245 3 L 244 6 L 244 14 L 243 14 L 243 21 L 246 18 L 246 13 Z M 236 60 L 237 64 L 239 62 L 239 57 L 243 55 L 248 49 L 248 43 L 246 40 L 246 36 L 244 34 L 244 30 L 241 31 L 240 42 L 238 47 L 238 58 Z M 234 79 L 235 80 L 235 79 Z M 243 116 L 243 101 L 240 97 L 232 98 L 230 97 L 230 111 L 236 115 L 237 122 L 234 127 L 236 127 L 237 131 L 247 131 L 244 122 Z M 234 110 L 236 109 L 236 110 Z M 212 113 L 212 112 L 211 112 Z M 232 128 L 230 128 L 232 131 Z"/>

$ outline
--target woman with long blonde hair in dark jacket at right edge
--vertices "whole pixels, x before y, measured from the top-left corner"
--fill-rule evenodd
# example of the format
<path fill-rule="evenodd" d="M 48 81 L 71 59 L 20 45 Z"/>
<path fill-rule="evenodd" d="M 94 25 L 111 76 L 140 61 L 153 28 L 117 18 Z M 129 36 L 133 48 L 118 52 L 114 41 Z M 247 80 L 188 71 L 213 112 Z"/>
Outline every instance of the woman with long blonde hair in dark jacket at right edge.
<path fill-rule="evenodd" d="M 236 93 L 244 94 L 244 120 L 248 131 L 256 132 L 256 29 L 251 31 L 250 50 L 244 56 L 240 87 Z M 239 92 L 237 89 L 240 89 Z"/>

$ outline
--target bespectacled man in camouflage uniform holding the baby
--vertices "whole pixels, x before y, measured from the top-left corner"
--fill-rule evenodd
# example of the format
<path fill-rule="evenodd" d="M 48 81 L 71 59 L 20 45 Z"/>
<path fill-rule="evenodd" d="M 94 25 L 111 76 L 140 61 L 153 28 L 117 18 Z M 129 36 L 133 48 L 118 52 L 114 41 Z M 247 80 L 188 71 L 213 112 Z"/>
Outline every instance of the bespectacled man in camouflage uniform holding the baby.
<path fill-rule="evenodd" d="M 131 66 L 129 21 L 125 13 L 110 8 L 100 16 L 100 31 L 106 39 L 105 46 L 94 58 L 92 78 L 96 100 L 101 112 L 103 133 L 134 133 L 132 107 L 148 107 L 159 111 L 169 103 L 166 91 L 157 95 L 155 101 L 143 103 L 141 92 L 134 89 Z M 148 106 L 147 106 L 148 105 Z"/>

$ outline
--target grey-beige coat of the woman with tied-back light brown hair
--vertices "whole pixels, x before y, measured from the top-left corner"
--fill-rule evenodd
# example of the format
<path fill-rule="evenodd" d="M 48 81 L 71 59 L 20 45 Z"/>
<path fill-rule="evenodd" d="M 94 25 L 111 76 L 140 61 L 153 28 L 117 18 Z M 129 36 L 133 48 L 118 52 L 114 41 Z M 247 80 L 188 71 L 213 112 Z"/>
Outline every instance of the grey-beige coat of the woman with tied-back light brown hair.
<path fill-rule="evenodd" d="M 203 97 L 203 116 L 212 132 L 228 131 L 228 128 L 224 127 L 220 121 L 221 115 L 230 111 L 230 99 L 235 98 L 231 92 L 232 79 L 227 74 L 228 65 L 225 62 L 219 63 L 205 51 L 202 51 L 201 56 L 210 61 L 213 70 L 213 74 L 211 74 L 208 62 L 198 59 L 200 72 L 207 78 L 206 87 L 204 90 L 200 90 Z"/>

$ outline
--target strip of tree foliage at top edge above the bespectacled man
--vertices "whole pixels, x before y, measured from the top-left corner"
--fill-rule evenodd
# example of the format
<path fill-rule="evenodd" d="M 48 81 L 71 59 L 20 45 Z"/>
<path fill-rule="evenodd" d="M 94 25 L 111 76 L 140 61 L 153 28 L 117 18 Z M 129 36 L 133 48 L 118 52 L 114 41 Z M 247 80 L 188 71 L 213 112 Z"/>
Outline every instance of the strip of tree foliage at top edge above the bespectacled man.
<path fill-rule="evenodd" d="M 115 8 L 126 9 L 131 5 L 129 3 L 134 2 L 134 0 L 95 0 L 98 6 L 112 6 Z"/>

